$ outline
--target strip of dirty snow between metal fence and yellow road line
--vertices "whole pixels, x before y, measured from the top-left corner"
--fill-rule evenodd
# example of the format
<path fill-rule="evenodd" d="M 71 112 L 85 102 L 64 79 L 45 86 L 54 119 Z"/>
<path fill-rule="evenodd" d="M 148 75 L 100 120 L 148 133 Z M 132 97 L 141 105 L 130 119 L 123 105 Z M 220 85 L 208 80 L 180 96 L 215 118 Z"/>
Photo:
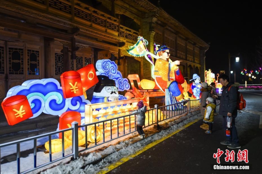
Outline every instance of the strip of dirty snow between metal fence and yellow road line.
<path fill-rule="evenodd" d="M 167 129 L 164 129 L 156 134 L 148 136 L 146 139 L 141 141 L 137 141 L 136 143 L 132 143 L 134 139 L 139 139 L 137 136 L 134 138 L 128 139 L 125 137 L 126 140 L 121 141 L 119 144 L 116 145 L 109 145 L 101 152 L 92 152 L 88 154 L 86 157 L 79 157 L 79 159 L 75 161 L 71 161 L 69 164 L 61 163 L 54 168 L 47 169 L 46 171 L 41 172 L 41 174 L 59 174 L 59 173 L 97 173 L 102 169 L 105 169 L 112 163 L 115 163 L 119 159 L 124 157 L 128 157 L 137 151 L 141 150 L 145 145 L 152 143 L 153 141 L 159 140 L 164 136 L 168 136 L 168 134 L 178 130 L 183 125 L 191 122 L 197 118 L 202 118 L 201 113 L 199 111 L 194 111 L 192 113 L 187 114 L 184 118 L 187 117 L 186 120 L 175 124 L 175 122 L 167 122 L 166 123 L 170 126 Z M 155 129 L 153 127 L 145 128 L 145 132 L 150 132 L 151 129 Z M 134 133 L 137 134 L 137 133 Z M 119 150 L 120 149 L 120 150 Z M 96 164 L 93 163 L 102 156 L 107 155 L 103 158 L 100 162 Z"/>

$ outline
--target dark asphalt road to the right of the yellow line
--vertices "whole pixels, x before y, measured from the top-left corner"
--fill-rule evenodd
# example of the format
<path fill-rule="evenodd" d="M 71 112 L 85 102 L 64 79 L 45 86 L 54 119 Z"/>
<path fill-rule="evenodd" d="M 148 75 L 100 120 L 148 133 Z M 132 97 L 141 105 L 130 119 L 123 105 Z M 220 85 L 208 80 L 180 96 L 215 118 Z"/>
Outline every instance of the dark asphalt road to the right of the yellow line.
<path fill-rule="evenodd" d="M 262 91 L 241 91 L 247 101 L 247 107 L 240 111 L 236 118 L 236 127 L 240 139 L 240 150 L 248 150 L 248 163 L 237 161 L 238 149 L 234 149 L 235 161 L 226 162 L 226 149 L 221 145 L 224 140 L 222 116 L 216 116 L 212 134 L 205 134 L 199 128 L 201 120 L 165 139 L 161 143 L 142 152 L 136 157 L 121 164 L 112 164 L 114 168 L 108 173 L 261 173 L 262 164 L 262 129 L 259 128 L 262 117 Z M 249 165 L 249 171 L 211 170 L 217 164 L 213 154 L 218 148 L 224 151 L 220 164 Z"/>

